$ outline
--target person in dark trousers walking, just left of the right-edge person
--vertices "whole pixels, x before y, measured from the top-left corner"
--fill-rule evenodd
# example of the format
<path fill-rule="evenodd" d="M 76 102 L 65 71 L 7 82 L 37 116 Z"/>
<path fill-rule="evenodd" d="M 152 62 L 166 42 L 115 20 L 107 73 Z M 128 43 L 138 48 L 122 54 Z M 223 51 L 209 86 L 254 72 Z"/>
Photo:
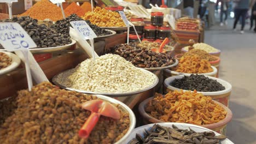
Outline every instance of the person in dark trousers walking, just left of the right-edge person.
<path fill-rule="evenodd" d="M 245 33 L 243 31 L 243 28 L 245 28 L 246 14 L 249 9 L 250 0 L 234 0 L 234 2 L 236 2 L 236 15 L 233 30 L 236 31 L 236 24 L 239 21 L 240 17 L 242 17 L 242 27 L 240 33 L 243 34 Z"/>

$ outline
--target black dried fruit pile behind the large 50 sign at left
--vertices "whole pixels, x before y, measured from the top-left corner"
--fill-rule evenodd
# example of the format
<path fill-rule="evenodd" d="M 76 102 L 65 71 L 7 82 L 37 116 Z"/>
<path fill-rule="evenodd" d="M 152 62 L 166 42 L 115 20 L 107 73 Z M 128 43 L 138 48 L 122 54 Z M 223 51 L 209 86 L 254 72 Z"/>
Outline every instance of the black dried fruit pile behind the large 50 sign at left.
<path fill-rule="evenodd" d="M 38 25 L 38 21 L 29 16 L 14 17 L 3 22 L 18 22 L 40 48 L 62 46 L 72 42 L 69 35 L 57 33 L 44 24 Z"/>

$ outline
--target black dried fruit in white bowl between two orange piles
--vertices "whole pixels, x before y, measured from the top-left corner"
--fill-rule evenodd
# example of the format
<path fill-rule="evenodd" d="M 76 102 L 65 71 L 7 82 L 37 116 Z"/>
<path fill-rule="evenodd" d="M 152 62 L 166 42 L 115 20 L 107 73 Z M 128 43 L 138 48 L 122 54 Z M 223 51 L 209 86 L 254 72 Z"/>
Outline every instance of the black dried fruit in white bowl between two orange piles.
<path fill-rule="evenodd" d="M 171 86 L 197 92 L 217 92 L 223 91 L 225 87 L 216 80 L 210 79 L 204 75 L 184 76 L 182 79 L 175 79 Z"/>

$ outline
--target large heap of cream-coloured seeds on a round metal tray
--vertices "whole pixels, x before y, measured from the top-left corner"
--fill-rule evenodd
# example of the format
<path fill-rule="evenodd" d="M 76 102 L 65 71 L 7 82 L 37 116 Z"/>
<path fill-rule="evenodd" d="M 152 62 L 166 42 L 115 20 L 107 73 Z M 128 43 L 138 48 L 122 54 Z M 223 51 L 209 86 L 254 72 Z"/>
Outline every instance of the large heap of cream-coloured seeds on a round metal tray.
<path fill-rule="evenodd" d="M 125 93 L 150 87 L 155 76 L 136 68 L 118 55 L 86 59 L 74 69 L 57 76 L 62 86 L 90 92 Z"/>

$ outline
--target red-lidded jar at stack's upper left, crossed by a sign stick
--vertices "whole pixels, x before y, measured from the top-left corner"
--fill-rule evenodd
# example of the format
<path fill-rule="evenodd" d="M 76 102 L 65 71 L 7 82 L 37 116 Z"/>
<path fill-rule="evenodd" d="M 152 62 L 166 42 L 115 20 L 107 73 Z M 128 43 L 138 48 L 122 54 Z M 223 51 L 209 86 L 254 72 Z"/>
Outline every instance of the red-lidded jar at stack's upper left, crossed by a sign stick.
<path fill-rule="evenodd" d="M 135 26 L 135 29 L 139 35 L 142 35 L 144 33 L 144 19 L 141 17 L 132 17 L 131 23 Z M 133 27 L 130 27 L 130 33 L 136 34 Z"/>

